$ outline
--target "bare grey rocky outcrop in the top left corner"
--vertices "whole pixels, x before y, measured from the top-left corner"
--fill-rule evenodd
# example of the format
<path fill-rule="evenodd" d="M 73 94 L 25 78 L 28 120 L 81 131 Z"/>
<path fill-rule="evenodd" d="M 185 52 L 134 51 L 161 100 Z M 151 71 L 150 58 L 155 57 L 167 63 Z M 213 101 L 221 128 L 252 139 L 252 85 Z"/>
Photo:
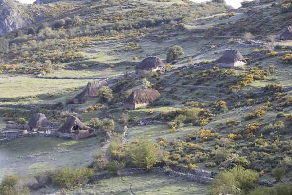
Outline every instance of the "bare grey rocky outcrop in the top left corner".
<path fill-rule="evenodd" d="M 0 35 L 30 25 L 33 21 L 23 12 L 23 6 L 17 1 L 0 0 Z"/>

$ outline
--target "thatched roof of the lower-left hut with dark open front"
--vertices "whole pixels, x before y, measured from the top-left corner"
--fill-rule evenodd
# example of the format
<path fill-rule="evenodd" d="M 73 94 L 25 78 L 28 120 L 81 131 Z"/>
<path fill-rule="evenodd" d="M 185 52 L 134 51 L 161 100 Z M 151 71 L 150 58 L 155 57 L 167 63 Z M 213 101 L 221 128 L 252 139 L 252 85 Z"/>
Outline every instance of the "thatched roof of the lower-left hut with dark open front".
<path fill-rule="evenodd" d="M 62 132 L 62 133 L 74 133 L 75 131 L 78 130 L 85 130 L 85 129 L 89 129 L 88 126 L 86 126 L 85 124 L 83 124 L 79 118 L 70 115 L 67 117 L 66 122 L 64 123 L 64 125 L 62 127 L 60 127 L 60 129 L 58 130 L 58 132 Z"/>

